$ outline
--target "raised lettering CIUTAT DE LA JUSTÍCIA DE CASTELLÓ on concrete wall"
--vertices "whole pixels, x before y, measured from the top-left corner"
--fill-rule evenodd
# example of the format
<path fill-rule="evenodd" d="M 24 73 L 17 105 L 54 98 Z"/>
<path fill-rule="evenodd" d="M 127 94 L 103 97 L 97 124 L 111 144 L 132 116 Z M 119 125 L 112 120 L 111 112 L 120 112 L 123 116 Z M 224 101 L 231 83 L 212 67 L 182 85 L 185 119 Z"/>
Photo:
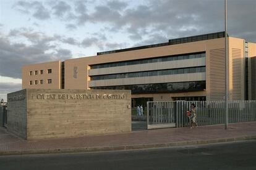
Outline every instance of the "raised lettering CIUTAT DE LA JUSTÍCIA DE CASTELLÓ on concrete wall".
<path fill-rule="evenodd" d="M 125 99 L 125 94 L 32 94 L 32 99 L 67 99 L 67 100 L 86 100 L 86 99 Z"/>

